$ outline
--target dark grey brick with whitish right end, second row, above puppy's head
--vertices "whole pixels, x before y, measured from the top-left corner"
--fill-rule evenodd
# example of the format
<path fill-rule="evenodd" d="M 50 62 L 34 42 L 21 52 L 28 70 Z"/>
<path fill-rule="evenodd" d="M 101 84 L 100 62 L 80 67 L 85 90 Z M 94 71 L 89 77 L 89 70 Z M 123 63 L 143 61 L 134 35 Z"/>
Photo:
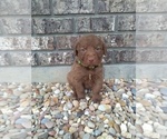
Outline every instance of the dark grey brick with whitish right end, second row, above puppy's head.
<path fill-rule="evenodd" d="M 92 31 L 115 31 L 115 17 L 91 18 Z"/>

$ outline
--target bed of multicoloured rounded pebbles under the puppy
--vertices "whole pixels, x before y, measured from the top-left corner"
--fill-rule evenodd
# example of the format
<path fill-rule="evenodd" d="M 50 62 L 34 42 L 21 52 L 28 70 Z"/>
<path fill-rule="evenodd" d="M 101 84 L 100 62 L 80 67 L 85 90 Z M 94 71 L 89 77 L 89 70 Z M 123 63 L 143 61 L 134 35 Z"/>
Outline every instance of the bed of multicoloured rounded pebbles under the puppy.
<path fill-rule="evenodd" d="M 167 80 L 111 79 L 102 101 L 68 83 L 0 83 L 1 139 L 167 139 Z"/>

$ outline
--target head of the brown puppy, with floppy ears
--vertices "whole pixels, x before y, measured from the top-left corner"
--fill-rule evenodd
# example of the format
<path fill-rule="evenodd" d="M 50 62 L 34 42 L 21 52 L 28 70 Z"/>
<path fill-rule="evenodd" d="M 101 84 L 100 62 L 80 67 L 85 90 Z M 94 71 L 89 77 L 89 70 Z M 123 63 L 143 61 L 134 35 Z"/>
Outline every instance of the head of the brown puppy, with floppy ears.
<path fill-rule="evenodd" d="M 88 67 L 100 64 L 106 51 L 102 40 L 94 34 L 81 37 L 75 47 L 76 57 Z"/>

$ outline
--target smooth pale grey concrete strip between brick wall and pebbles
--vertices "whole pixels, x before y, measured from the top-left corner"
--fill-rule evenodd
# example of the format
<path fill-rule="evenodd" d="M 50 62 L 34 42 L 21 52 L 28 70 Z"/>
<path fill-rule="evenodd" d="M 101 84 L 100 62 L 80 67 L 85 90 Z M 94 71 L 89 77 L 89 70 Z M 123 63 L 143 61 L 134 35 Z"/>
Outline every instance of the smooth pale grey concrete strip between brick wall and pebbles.
<path fill-rule="evenodd" d="M 66 82 L 70 67 L 1 67 L 0 82 Z M 105 79 L 167 79 L 167 64 L 105 66 Z"/>

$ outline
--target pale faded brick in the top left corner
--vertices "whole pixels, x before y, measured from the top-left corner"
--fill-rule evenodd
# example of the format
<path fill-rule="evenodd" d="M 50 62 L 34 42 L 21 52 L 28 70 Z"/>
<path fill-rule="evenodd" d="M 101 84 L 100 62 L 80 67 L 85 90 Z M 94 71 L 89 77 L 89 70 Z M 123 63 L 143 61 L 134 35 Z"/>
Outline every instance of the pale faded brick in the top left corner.
<path fill-rule="evenodd" d="M 31 14 L 31 0 L 0 0 L 0 14 Z"/>

